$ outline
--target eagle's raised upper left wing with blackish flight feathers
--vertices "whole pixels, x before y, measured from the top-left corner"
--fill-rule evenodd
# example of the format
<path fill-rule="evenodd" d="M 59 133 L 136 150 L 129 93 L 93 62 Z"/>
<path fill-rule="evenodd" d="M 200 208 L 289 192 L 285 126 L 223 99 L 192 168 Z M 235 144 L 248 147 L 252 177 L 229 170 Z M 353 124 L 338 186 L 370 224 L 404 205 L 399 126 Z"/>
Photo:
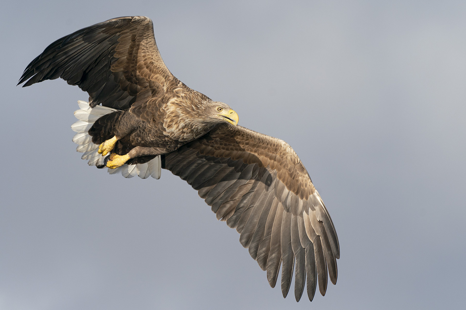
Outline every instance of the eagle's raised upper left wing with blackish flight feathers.
<path fill-rule="evenodd" d="M 178 85 L 165 66 L 147 17 L 120 17 L 50 44 L 24 70 L 18 84 L 62 78 L 89 93 L 91 106 L 128 109 Z"/>

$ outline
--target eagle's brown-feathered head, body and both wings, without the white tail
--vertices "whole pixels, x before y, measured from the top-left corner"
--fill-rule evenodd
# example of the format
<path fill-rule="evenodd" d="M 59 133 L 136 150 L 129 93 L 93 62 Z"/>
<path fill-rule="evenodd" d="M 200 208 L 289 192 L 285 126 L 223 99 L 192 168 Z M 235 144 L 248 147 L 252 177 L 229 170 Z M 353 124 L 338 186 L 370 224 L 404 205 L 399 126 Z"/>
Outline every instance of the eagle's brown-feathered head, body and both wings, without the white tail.
<path fill-rule="evenodd" d="M 116 137 L 111 152 L 128 154 L 124 165 L 160 155 L 162 168 L 236 228 L 272 287 L 282 268 L 284 297 L 293 273 L 297 301 L 306 282 L 310 300 L 317 283 L 322 295 L 328 276 L 336 283 L 336 231 L 299 157 L 280 139 L 219 118 L 216 109 L 230 106 L 175 78 L 150 19 L 122 17 L 65 36 L 27 66 L 20 83 L 59 77 L 88 92 L 90 106 L 118 110 L 94 122 L 93 143 Z"/>

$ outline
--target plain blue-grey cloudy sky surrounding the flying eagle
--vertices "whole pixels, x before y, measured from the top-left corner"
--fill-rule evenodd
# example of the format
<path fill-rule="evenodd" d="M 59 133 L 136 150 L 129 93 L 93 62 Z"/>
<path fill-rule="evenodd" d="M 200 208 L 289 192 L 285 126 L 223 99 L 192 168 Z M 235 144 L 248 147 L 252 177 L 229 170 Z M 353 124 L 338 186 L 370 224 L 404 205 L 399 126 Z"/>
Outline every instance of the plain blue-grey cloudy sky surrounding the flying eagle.
<path fill-rule="evenodd" d="M 284 2 L 2 4 L 0 310 L 464 309 L 466 2 Z M 127 15 L 178 79 L 301 157 L 341 246 L 325 297 L 283 299 L 169 171 L 86 165 L 77 86 L 15 86 L 54 40 Z"/>

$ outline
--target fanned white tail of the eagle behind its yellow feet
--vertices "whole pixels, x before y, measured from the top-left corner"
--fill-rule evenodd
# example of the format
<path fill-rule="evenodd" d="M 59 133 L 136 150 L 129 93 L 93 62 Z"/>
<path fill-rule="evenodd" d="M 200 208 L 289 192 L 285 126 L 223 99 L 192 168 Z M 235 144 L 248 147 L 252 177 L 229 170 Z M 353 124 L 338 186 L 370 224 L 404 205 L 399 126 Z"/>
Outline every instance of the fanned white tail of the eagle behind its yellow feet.
<path fill-rule="evenodd" d="M 96 165 L 102 167 L 104 166 L 105 157 L 97 152 L 99 145 L 92 142 L 92 137 L 89 135 L 88 131 L 97 119 L 105 114 L 118 110 L 106 106 L 95 106 L 91 108 L 89 103 L 82 100 L 78 101 L 78 106 L 79 110 L 75 111 L 75 117 L 78 121 L 71 125 L 71 129 L 77 132 L 73 137 L 73 142 L 78 145 L 76 151 L 84 153 L 81 158 L 87 160 L 89 166 Z M 121 172 L 125 178 L 132 178 L 137 175 L 139 178 L 149 178 L 149 176 L 151 176 L 152 178 L 159 179 L 162 172 L 162 161 L 160 155 L 158 155 L 144 164 L 124 164 L 117 169 L 109 168 L 108 171 L 110 174 Z"/>

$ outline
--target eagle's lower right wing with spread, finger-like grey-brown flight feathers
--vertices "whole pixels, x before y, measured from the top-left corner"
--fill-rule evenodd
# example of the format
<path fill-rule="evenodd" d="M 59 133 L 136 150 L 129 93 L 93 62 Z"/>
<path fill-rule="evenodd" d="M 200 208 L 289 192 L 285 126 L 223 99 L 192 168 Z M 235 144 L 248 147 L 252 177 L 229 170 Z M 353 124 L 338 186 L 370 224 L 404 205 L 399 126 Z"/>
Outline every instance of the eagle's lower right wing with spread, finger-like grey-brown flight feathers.
<path fill-rule="evenodd" d="M 281 267 L 286 297 L 295 273 L 295 298 L 316 283 L 322 295 L 327 270 L 336 284 L 340 248 L 335 227 L 293 149 L 284 141 L 241 126 L 220 125 L 164 155 L 165 169 L 186 180 L 217 218 L 241 234 L 274 287 Z"/>

